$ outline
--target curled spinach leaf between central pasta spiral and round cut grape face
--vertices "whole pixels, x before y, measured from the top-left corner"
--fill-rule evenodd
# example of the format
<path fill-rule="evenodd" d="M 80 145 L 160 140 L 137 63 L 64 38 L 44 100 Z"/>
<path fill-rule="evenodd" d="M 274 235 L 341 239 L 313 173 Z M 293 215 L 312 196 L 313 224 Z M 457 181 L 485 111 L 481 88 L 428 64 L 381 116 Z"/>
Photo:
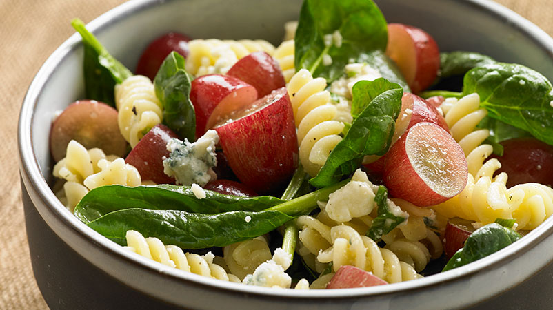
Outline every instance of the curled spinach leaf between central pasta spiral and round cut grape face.
<path fill-rule="evenodd" d="M 355 83 L 352 111 L 357 116 L 348 134 L 334 147 L 319 174 L 310 180 L 311 185 L 329 186 L 359 168 L 363 156 L 388 152 L 395 120 L 401 110 L 401 96 L 401 86 L 383 78 Z"/>

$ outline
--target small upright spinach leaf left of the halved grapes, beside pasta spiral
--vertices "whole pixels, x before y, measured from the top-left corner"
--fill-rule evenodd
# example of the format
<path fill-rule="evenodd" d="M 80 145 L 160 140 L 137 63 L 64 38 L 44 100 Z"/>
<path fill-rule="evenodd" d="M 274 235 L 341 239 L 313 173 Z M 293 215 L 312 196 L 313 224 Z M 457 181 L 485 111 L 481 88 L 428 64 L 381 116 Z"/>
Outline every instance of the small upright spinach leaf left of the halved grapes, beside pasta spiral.
<path fill-rule="evenodd" d="M 190 101 L 190 75 L 184 57 L 171 52 L 154 79 L 156 96 L 163 104 L 163 123 L 188 141 L 196 140 L 196 114 Z"/>

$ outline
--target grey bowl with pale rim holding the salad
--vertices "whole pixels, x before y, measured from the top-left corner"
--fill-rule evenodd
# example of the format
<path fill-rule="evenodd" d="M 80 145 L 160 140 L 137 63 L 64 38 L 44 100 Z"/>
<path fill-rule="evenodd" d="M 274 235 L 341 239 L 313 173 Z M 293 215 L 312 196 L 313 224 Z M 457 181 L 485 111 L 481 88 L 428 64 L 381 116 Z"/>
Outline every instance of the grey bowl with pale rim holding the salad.
<path fill-rule="evenodd" d="M 419 26 L 442 50 L 474 50 L 518 62 L 553 79 L 553 40 L 535 25 L 484 0 L 381 0 L 389 21 Z M 88 28 L 129 68 L 159 34 L 265 38 L 278 43 L 296 0 L 137 0 Z M 447 26 L 444 26 L 447 25 Z M 68 25 L 69 27 L 69 25 Z M 82 99 L 82 47 L 74 35 L 44 63 L 19 118 L 23 205 L 35 278 L 52 309 L 550 309 L 553 219 L 522 240 L 473 264 L 421 280 L 381 287 L 295 291 L 247 287 L 204 278 L 128 253 L 80 223 L 48 181 L 50 123 Z"/>

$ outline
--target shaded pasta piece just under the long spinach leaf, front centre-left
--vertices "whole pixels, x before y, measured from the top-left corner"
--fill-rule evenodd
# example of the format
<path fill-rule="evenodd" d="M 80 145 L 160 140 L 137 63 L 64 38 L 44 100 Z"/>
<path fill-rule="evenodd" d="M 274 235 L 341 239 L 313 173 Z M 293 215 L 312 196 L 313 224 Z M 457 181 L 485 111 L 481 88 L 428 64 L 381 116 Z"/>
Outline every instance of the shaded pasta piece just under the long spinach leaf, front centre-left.
<path fill-rule="evenodd" d="M 263 236 L 234 243 L 223 249 L 223 258 L 230 272 L 240 280 L 271 257 L 271 250 Z"/>

